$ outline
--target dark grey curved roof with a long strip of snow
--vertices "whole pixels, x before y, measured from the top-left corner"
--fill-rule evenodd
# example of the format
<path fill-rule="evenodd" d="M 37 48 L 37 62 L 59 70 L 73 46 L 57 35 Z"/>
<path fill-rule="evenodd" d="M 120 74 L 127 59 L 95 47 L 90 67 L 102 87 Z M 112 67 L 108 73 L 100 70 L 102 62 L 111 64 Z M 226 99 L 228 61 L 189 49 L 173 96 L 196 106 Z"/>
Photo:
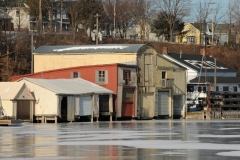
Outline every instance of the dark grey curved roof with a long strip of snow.
<path fill-rule="evenodd" d="M 33 54 L 137 53 L 144 44 L 40 46 Z"/>

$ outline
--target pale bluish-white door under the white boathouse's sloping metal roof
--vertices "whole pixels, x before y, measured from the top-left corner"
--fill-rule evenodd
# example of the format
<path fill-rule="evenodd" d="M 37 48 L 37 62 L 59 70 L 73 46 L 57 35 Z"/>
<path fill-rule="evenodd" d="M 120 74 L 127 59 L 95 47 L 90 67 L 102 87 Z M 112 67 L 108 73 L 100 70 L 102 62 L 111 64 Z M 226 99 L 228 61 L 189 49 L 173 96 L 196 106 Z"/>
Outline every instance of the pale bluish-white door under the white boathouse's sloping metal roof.
<path fill-rule="evenodd" d="M 91 96 L 80 97 L 80 116 L 92 115 L 92 99 Z"/>

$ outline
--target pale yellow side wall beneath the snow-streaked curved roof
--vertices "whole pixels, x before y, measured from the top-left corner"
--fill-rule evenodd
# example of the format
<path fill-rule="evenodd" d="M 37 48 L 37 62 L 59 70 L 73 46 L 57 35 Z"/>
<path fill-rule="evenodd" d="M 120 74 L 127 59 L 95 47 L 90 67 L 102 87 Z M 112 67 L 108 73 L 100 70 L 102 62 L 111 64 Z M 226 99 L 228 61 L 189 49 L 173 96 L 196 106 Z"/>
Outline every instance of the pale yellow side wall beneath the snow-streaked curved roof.
<path fill-rule="evenodd" d="M 98 64 L 125 63 L 134 64 L 136 62 L 135 53 L 102 53 L 102 54 L 35 54 L 34 73 L 47 70 L 69 68 L 76 66 L 88 66 Z M 82 76 L 82 75 L 81 75 Z"/>

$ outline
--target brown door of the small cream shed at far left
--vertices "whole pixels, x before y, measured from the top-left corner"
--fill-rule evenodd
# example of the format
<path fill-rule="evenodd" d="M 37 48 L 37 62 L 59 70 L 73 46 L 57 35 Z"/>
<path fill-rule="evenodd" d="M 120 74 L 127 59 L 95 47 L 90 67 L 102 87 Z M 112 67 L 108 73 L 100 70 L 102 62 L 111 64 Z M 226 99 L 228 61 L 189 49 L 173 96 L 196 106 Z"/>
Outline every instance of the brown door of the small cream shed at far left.
<path fill-rule="evenodd" d="M 17 101 L 17 119 L 29 120 L 30 101 Z"/>

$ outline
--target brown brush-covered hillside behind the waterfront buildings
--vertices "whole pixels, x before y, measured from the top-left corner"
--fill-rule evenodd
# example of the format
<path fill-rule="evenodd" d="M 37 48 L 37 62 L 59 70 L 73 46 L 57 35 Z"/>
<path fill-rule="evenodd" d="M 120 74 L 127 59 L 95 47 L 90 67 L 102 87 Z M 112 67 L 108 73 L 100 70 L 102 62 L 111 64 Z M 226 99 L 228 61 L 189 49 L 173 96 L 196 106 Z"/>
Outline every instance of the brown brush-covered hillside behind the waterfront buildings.
<path fill-rule="evenodd" d="M 5 43 L 1 36 L 0 44 L 0 81 L 10 81 L 11 76 L 31 73 L 31 36 L 28 34 L 18 35 L 14 41 Z M 161 54 L 163 47 L 168 47 L 169 53 L 200 54 L 199 45 L 175 44 L 163 42 L 141 42 L 136 40 L 106 39 L 100 43 L 121 44 L 121 43 L 145 43 Z M 95 44 L 85 34 L 79 33 L 74 40 L 69 34 L 44 34 L 34 35 L 34 46 L 42 45 L 72 45 L 72 44 Z M 218 61 L 238 70 L 240 73 L 240 49 L 228 46 L 206 47 L 206 54 L 216 57 Z"/>

